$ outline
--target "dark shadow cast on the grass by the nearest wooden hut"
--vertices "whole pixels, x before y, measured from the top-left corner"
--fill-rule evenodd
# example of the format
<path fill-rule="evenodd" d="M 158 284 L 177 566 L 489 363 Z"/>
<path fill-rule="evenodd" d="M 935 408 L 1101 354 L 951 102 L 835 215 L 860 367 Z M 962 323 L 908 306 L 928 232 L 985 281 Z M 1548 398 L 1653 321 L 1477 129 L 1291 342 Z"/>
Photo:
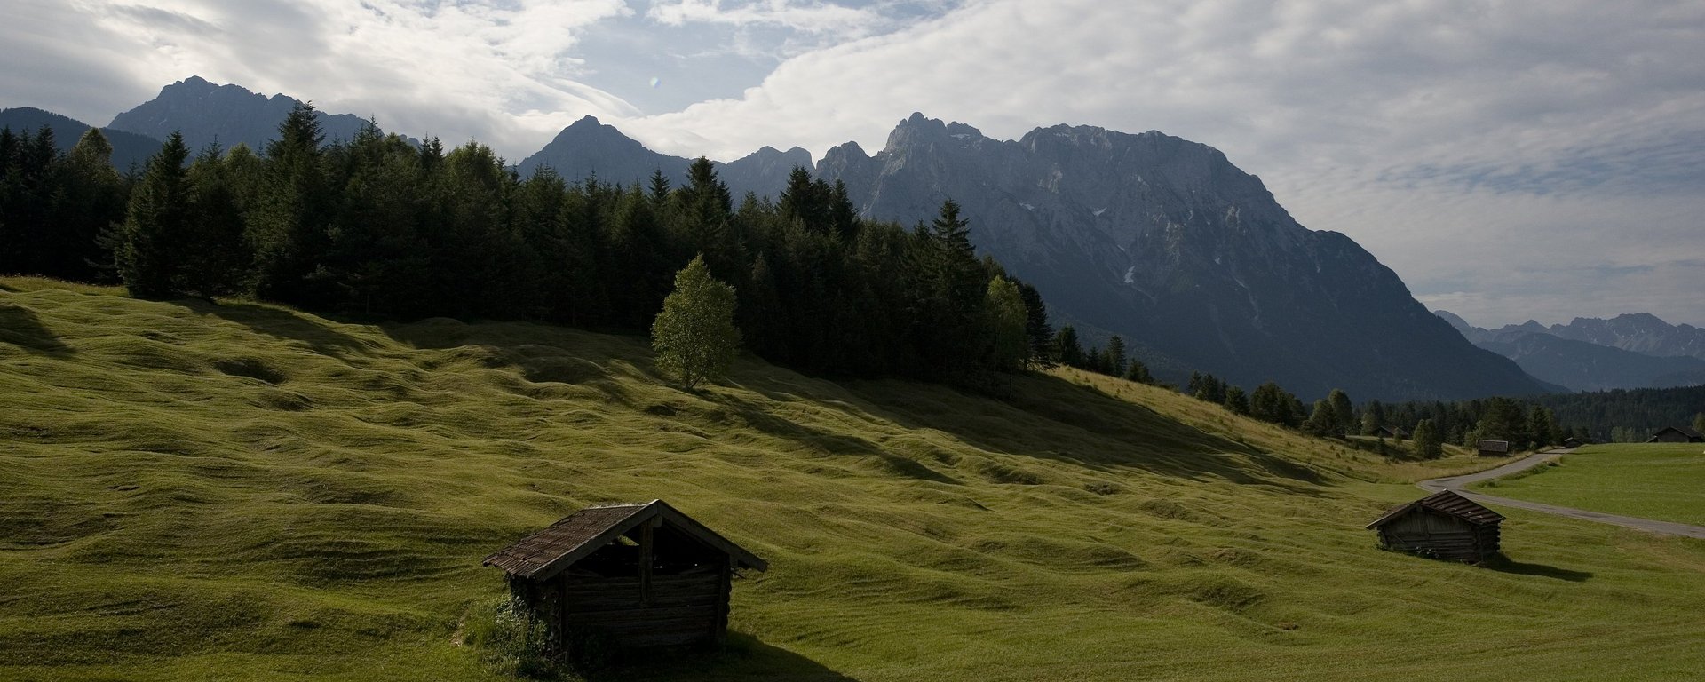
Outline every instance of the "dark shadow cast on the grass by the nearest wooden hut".
<path fill-rule="evenodd" d="M 852 677 L 745 633 L 728 633 L 716 650 L 662 650 L 624 656 L 587 673 L 588 682 L 616 680 L 798 680 L 858 682 Z"/>

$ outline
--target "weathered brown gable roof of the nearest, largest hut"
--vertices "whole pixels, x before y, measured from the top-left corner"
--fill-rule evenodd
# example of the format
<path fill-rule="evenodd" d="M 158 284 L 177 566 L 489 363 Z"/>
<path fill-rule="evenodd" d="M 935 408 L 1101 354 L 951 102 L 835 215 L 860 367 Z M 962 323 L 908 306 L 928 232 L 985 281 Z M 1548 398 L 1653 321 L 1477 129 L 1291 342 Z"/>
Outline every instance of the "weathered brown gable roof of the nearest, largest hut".
<path fill-rule="evenodd" d="M 726 552 L 737 566 L 755 568 L 759 571 L 769 568 L 767 561 L 728 542 L 714 530 L 706 529 L 662 500 L 588 506 L 551 523 L 549 529 L 500 549 L 496 554 L 488 556 L 483 564 L 501 568 L 520 578 L 547 580 L 564 568 L 573 566 L 575 561 L 585 559 L 588 554 L 648 522 L 653 525 L 668 523 L 675 530 Z"/>

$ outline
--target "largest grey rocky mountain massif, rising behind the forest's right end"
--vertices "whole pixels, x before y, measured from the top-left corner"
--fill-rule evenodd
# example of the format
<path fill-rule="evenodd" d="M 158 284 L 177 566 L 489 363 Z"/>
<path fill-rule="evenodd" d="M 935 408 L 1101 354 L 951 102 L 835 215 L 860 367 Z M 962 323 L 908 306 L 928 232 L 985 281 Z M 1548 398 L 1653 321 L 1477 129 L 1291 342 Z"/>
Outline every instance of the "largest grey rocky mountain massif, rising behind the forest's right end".
<path fill-rule="evenodd" d="M 1091 126 L 1021 140 L 902 121 L 875 157 L 832 148 L 866 217 L 914 223 L 953 198 L 972 240 L 1035 285 L 1049 312 L 1120 334 L 1178 379 L 1212 372 L 1303 397 L 1459 399 L 1555 390 L 1475 348 L 1337 232 L 1315 232 L 1212 147 Z"/>

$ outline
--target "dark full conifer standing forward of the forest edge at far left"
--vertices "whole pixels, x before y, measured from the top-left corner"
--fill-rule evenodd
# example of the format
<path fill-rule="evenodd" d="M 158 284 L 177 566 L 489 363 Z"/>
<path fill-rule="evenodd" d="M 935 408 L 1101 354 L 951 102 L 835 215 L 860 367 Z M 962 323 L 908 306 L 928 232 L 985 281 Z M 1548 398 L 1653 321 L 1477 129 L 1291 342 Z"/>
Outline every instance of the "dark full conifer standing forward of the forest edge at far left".
<path fill-rule="evenodd" d="M 119 230 L 116 261 L 119 278 L 138 298 L 182 293 L 182 257 L 189 244 L 189 181 L 184 136 L 172 133 L 152 159 L 130 196 Z"/>

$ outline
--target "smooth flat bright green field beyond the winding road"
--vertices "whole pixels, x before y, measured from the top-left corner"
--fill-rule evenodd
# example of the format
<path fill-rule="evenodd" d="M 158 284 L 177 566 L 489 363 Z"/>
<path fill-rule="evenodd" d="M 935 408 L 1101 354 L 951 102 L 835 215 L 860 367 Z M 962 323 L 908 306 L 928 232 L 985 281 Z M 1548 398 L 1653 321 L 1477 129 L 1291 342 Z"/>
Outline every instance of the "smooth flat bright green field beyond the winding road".
<path fill-rule="evenodd" d="M 1555 465 L 1478 489 L 1516 500 L 1705 525 L 1705 445 L 1587 445 Z"/>

